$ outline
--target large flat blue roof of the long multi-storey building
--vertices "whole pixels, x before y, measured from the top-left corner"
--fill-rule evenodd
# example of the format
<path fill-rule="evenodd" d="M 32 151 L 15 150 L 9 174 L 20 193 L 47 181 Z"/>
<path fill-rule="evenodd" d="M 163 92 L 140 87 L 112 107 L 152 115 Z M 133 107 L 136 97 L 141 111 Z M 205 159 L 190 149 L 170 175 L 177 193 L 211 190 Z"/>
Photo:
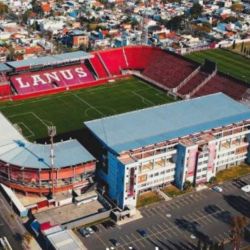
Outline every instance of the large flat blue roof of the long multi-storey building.
<path fill-rule="evenodd" d="M 250 110 L 223 93 L 85 122 L 116 153 L 250 119 Z"/>

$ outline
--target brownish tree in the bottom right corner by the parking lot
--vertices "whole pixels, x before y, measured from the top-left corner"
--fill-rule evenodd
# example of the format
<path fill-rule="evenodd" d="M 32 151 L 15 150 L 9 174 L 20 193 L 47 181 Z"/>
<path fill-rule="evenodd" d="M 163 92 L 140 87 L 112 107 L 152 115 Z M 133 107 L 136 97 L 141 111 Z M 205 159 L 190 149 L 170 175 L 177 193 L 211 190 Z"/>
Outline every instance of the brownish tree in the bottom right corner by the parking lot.
<path fill-rule="evenodd" d="M 244 229 L 248 224 L 248 219 L 245 216 L 235 216 L 231 221 L 231 235 L 234 244 L 234 249 L 240 249 L 241 237 L 243 236 Z"/>

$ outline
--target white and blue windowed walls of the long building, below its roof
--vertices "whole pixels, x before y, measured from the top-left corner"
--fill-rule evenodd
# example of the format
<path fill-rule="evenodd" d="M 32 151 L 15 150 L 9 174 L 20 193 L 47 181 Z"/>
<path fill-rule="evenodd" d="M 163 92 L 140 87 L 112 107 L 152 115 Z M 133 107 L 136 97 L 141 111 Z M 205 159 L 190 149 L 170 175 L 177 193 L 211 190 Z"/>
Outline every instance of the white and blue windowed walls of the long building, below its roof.
<path fill-rule="evenodd" d="M 187 180 L 193 184 L 208 182 L 221 169 L 245 160 L 250 162 L 250 129 L 247 125 L 236 129 L 230 132 L 225 128 L 221 134 L 210 131 L 207 140 L 197 142 L 199 135 L 193 135 L 186 144 L 180 140 L 174 147 L 155 145 L 139 149 L 134 155 L 117 156 L 109 152 L 108 173 L 102 174 L 102 179 L 109 186 L 110 197 L 121 208 L 135 207 L 141 192 L 172 182 L 180 189 Z"/>

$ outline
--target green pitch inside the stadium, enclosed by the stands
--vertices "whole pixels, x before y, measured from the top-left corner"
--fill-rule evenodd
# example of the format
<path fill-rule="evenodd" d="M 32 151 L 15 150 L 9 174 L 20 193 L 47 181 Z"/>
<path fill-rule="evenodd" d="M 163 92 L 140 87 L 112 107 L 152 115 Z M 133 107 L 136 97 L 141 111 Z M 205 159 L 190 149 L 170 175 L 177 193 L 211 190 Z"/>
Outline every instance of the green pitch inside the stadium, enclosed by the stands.
<path fill-rule="evenodd" d="M 163 91 L 136 78 L 42 98 L 0 103 L 0 111 L 31 141 L 46 138 L 47 126 L 71 135 L 83 122 L 172 102 Z"/>

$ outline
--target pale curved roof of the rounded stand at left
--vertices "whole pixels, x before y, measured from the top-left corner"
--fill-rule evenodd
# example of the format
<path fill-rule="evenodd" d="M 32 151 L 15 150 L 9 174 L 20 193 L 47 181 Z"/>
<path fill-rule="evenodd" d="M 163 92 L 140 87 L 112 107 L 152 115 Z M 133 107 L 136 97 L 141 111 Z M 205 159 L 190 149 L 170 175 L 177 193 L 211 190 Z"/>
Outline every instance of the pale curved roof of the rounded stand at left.
<path fill-rule="evenodd" d="M 55 168 L 93 161 L 94 157 L 77 141 L 54 144 Z M 50 145 L 27 141 L 0 113 L 0 160 L 25 168 L 50 168 Z"/>

